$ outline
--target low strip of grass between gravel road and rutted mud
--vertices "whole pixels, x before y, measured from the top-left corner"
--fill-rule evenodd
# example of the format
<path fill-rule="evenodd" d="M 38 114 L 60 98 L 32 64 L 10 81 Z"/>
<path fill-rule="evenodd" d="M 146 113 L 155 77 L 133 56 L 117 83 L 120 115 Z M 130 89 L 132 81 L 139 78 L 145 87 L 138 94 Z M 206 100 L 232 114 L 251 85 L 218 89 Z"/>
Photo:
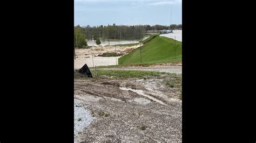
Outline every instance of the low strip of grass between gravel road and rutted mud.
<path fill-rule="evenodd" d="M 142 71 L 142 70 L 98 70 L 98 76 L 108 76 L 115 79 L 127 78 L 150 78 L 150 76 L 160 76 L 166 74 L 159 71 Z"/>

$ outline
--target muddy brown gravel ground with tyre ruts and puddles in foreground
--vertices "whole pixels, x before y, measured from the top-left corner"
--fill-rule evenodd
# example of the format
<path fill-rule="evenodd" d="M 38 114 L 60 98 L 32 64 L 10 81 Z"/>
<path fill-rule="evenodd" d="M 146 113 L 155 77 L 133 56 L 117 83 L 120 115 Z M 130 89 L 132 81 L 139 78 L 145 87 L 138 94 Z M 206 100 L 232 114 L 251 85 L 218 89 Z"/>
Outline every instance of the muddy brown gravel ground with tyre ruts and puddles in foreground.
<path fill-rule="evenodd" d="M 75 77 L 74 98 L 94 118 L 75 140 L 181 141 L 180 95 L 180 74 L 123 80 Z"/>

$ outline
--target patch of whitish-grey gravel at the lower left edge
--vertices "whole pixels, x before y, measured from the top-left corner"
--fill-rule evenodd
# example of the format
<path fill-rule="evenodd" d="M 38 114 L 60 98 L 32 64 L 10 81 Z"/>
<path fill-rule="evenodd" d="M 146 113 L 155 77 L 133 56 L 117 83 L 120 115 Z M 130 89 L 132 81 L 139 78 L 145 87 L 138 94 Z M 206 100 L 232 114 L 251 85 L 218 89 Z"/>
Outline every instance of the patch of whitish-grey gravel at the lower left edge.
<path fill-rule="evenodd" d="M 82 119 L 78 121 L 78 119 Z M 90 112 L 84 108 L 83 101 L 74 99 L 74 138 L 78 141 L 78 132 L 82 132 L 84 128 L 95 119 Z"/>

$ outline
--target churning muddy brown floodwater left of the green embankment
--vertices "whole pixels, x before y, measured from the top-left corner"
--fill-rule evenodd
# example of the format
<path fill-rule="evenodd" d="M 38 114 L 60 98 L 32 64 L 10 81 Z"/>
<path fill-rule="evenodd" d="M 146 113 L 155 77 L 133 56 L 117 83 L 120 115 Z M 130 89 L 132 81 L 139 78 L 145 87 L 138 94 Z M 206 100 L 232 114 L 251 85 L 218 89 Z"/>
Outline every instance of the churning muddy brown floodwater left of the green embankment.
<path fill-rule="evenodd" d="M 138 48 L 137 46 L 123 47 L 116 46 L 117 53 L 124 52 L 129 53 L 133 49 Z M 114 46 L 93 46 L 92 50 L 89 49 L 76 49 L 76 59 L 74 60 L 74 69 L 79 69 L 84 66 L 86 63 L 87 66 L 108 66 L 108 65 L 116 65 L 116 57 L 102 57 L 98 56 L 99 54 L 103 54 L 106 52 L 115 52 Z M 93 64 L 92 64 L 92 54 L 93 54 Z M 117 59 L 120 56 L 117 56 Z"/>

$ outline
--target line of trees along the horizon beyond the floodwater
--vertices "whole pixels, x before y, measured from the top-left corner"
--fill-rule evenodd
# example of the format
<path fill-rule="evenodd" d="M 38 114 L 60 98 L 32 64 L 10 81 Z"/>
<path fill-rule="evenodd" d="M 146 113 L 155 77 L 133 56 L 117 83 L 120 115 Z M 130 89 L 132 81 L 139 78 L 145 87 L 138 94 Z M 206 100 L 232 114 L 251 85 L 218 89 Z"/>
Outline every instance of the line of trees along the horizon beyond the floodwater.
<path fill-rule="evenodd" d="M 159 31 L 159 30 L 179 30 L 182 27 L 181 24 L 172 24 L 170 26 L 163 25 L 100 25 L 100 26 L 75 26 L 75 40 L 76 46 L 86 45 L 85 39 L 88 40 L 138 40 L 144 37 L 145 31 Z M 78 42 L 80 40 L 80 42 Z M 75 42 L 75 41 L 74 41 Z"/>

